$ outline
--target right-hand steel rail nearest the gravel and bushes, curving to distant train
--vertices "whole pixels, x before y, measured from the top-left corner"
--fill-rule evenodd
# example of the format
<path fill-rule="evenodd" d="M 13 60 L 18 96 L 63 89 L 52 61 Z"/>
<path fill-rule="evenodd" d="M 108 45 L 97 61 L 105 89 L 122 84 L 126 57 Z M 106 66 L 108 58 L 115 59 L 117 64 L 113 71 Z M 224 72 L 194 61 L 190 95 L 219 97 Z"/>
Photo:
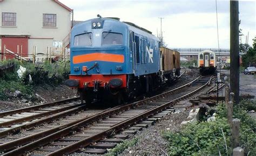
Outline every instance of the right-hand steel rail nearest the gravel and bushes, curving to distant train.
<path fill-rule="evenodd" d="M 208 82 L 210 80 L 211 80 L 211 78 L 208 80 Z M 152 114 L 154 114 L 156 112 L 159 112 L 159 111 L 162 111 L 162 110 L 166 109 L 166 107 L 169 107 L 170 105 L 173 105 L 174 103 L 176 103 L 176 101 L 178 101 L 180 99 L 183 99 L 183 98 L 186 98 L 188 96 L 191 96 L 191 94 L 194 94 L 194 93 L 200 91 L 201 89 L 203 89 L 208 84 L 208 82 L 205 85 L 199 87 L 199 89 L 194 90 L 190 93 L 187 93 L 184 96 L 176 98 L 176 99 L 174 99 L 172 101 L 169 101 L 169 102 L 167 102 L 163 105 L 160 105 L 158 107 L 151 108 L 150 110 L 147 110 L 147 111 L 145 111 L 141 114 L 138 114 L 137 116 L 126 119 L 126 120 L 120 122 L 119 124 L 114 125 L 114 126 L 110 127 L 109 129 L 107 129 L 103 132 L 97 133 L 95 135 L 92 135 L 89 138 L 82 139 L 82 140 L 80 140 L 76 143 L 73 143 L 73 144 L 68 145 L 66 147 L 63 147 L 63 148 L 60 148 L 59 150 L 57 150 L 55 152 L 52 152 L 49 155 L 64 155 L 64 154 L 69 154 L 69 153 L 75 152 L 75 151 L 79 150 L 79 148 L 85 147 L 87 145 L 90 145 L 92 142 L 95 142 L 95 141 L 98 141 L 98 140 L 102 139 L 106 135 L 111 134 L 113 131 L 118 132 L 118 131 L 122 130 L 124 127 L 127 127 L 127 125 L 133 125 L 134 123 L 136 123 L 136 122 L 138 122 L 142 119 L 145 119 L 146 117 L 152 116 Z"/>

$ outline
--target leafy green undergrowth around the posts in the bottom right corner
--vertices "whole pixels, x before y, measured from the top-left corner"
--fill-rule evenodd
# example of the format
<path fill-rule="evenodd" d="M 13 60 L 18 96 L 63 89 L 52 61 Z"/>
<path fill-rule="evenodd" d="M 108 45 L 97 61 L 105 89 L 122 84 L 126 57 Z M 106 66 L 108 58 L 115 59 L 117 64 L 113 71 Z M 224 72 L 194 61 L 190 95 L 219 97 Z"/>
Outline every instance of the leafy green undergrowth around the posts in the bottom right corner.
<path fill-rule="evenodd" d="M 233 118 L 241 120 L 239 146 L 245 149 L 246 154 L 256 155 L 256 122 L 246 112 L 252 103 L 255 101 L 241 101 L 240 105 L 234 106 Z M 169 154 L 231 155 L 231 130 L 226 116 L 225 105 L 219 104 L 216 121 L 187 124 L 179 132 L 163 132 L 163 137 L 169 142 Z"/>

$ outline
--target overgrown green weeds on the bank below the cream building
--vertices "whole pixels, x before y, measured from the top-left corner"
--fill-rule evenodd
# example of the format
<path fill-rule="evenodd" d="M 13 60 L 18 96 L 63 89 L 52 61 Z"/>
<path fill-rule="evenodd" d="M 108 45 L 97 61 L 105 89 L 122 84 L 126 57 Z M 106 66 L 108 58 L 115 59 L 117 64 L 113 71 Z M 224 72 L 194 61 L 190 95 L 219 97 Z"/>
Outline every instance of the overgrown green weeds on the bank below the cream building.
<path fill-rule="evenodd" d="M 36 86 L 60 84 L 63 80 L 68 78 L 70 71 L 69 63 L 65 62 L 53 64 L 45 62 L 42 65 L 35 65 L 27 62 L 20 64 L 20 62 L 13 59 L 0 62 L 0 64 L 9 64 L 10 62 L 15 64 L 15 70 L 6 72 L 0 77 L 0 100 L 8 99 L 11 97 L 10 93 L 16 90 L 21 91 L 24 97 L 31 97 Z M 17 75 L 17 70 L 20 65 L 26 68 L 23 78 L 19 78 Z M 32 82 L 29 81 L 29 75 L 32 78 Z"/>

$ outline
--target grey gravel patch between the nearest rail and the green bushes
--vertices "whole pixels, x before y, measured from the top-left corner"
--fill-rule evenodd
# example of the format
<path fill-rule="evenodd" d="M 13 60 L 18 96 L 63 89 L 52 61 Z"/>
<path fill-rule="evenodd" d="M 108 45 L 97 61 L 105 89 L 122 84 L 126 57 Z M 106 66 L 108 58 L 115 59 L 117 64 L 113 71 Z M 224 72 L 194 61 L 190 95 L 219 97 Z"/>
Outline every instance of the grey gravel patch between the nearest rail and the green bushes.
<path fill-rule="evenodd" d="M 155 125 L 149 128 L 144 128 L 133 137 L 138 138 L 138 143 L 134 147 L 127 148 L 120 155 L 167 155 L 167 141 L 163 138 L 163 131 L 178 131 L 181 122 L 188 120 L 187 116 L 190 109 L 181 108 L 178 113 L 172 113 L 168 116 L 161 118 Z"/>

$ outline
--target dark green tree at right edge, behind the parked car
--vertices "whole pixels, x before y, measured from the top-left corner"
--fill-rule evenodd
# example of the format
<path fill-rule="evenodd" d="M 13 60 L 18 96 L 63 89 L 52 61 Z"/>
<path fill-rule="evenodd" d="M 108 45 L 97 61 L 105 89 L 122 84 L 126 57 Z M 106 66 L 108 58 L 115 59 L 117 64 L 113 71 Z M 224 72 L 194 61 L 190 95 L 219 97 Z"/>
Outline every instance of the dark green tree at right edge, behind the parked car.
<path fill-rule="evenodd" d="M 256 66 L 256 36 L 253 39 L 252 47 L 249 47 L 247 53 L 242 55 L 242 66 Z"/>

